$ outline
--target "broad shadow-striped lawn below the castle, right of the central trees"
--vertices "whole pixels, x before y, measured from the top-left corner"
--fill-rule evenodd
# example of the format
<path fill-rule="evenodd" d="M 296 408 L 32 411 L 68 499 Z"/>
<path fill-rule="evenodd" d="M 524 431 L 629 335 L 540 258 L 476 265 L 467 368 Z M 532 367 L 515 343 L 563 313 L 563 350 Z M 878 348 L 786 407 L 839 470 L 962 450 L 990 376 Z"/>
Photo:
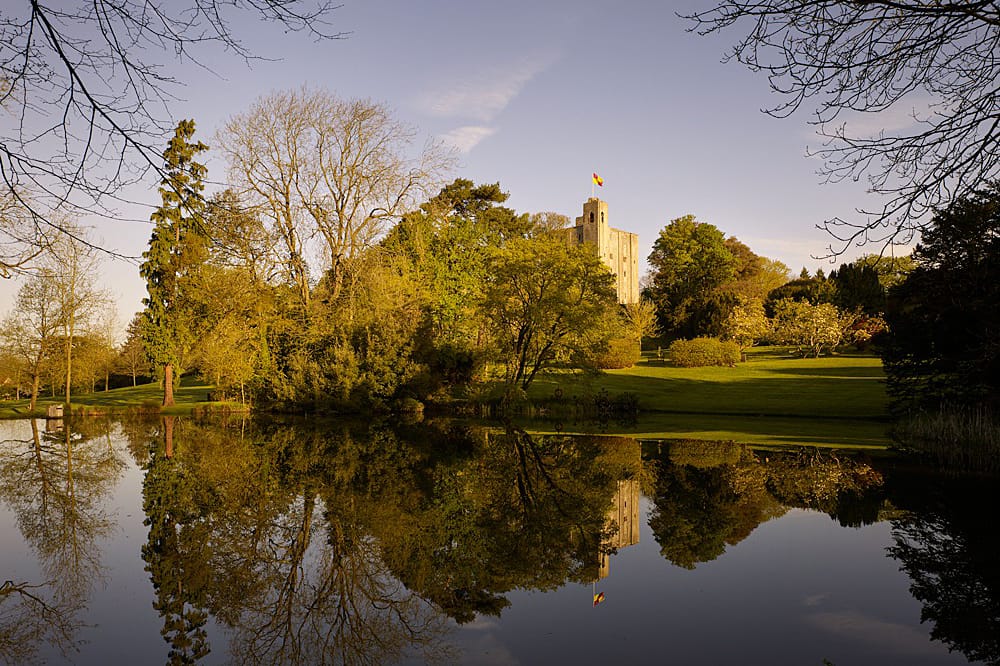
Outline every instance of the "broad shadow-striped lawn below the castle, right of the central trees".
<path fill-rule="evenodd" d="M 889 443 L 883 380 L 881 361 L 868 354 L 800 359 L 761 348 L 735 368 L 675 368 L 645 354 L 634 368 L 597 376 L 551 373 L 529 395 L 634 393 L 639 422 L 609 430 L 642 438 L 881 448 Z"/>

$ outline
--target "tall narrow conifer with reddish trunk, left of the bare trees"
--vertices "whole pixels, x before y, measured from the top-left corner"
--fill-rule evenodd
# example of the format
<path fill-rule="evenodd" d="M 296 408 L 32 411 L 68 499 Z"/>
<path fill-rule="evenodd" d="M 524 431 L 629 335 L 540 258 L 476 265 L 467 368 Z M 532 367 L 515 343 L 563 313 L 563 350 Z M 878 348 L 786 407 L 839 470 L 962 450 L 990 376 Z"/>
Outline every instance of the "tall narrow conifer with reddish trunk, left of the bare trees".
<path fill-rule="evenodd" d="M 208 243 L 202 197 L 206 169 L 195 161 L 208 146 L 191 143 L 193 136 L 194 121 L 180 121 L 163 152 L 167 172 L 160 186 L 163 203 L 150 218 L 153 234 L 139 267 L 148 294 L 143 299 L 143 339 L 150 358 L 163 367 L 164 407 L 174 404 L 174 371 L 180 375 L 179 366 L 192 343 L 193 322 L 185 289 L 204 261 Z"/>

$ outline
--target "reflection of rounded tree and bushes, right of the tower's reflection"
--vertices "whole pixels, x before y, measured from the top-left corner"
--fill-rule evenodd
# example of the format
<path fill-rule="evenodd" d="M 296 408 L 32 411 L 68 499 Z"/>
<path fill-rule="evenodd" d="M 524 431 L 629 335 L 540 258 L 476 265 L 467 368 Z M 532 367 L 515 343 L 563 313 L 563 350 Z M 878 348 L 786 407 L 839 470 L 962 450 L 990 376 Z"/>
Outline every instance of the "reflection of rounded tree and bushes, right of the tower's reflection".
<path fill-rule="evenodd" d="M 692 569 L 722 555 L 789 508 L 829 513 L 842 524 L 874 522 L 881 475 L 815 450 L 756 454 L 732 442 L 647 445 L 649 525 L 660 553 Z"/>

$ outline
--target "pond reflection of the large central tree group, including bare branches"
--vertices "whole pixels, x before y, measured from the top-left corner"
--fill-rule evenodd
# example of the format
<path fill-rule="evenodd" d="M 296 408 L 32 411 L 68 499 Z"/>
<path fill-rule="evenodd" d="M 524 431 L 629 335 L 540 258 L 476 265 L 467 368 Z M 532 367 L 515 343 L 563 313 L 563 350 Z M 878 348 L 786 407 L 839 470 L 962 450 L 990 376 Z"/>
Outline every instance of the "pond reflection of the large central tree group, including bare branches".
<path fill-rule="evenodd" d="M 452 656 L 448 618 L 515 588 L 596 578 L 638 449 L 425 426 L 172 428 L 146 457 L 143 557 L 176 663 L 384 663 Z"/>

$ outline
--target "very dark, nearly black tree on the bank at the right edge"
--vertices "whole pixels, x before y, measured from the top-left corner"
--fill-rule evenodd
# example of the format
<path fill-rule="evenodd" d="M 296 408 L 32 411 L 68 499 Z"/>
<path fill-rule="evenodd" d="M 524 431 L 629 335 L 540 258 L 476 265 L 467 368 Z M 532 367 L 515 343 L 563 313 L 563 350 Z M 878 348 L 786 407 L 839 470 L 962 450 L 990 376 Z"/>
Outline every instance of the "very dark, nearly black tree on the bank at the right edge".
<path fill-rule="evenodd" d="M 1000 404 L 1000 188 L 938 212 L 889 292 L 882 350 L 897 409 Z"/>

